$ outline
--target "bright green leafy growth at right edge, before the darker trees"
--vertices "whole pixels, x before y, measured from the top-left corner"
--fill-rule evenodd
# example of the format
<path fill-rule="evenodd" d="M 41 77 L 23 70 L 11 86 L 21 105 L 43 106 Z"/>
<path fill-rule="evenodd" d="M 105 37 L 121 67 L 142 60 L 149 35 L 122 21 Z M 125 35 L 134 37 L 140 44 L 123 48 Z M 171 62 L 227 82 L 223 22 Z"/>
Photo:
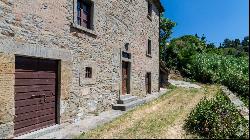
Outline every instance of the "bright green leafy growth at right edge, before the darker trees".
<path fill-rule="evenodd" d="M 249 98 L 249 71 L 247 57 L 197 54 L 189 64 L 192 78 L 209 83 L 221 83 L 240 96 Z"/>

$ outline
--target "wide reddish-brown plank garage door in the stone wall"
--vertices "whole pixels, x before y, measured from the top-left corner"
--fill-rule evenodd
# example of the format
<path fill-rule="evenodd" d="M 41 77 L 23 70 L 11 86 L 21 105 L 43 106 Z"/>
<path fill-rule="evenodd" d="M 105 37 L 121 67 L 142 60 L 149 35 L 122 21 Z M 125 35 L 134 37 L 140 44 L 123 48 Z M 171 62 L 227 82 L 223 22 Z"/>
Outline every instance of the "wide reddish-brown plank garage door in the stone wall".
<path fill-rule="evenodd" d="M 56 123 L 57 61 L 16 57 L 15 135 Z"/>

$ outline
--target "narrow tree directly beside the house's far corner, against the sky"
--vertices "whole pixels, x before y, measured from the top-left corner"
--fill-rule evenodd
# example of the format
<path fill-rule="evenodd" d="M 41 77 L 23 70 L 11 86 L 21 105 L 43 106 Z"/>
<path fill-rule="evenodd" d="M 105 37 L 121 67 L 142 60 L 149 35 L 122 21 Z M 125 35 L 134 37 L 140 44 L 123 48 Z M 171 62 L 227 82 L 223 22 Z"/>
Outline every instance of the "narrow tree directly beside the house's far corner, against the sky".
<path fill-rule="evenodd" d="M 163 14 L 160 17 L 160 58 L 165 61 L 167 40 L 173 33 L 173 28 L 176 23 L 172 20 L 165 18 Z"/>

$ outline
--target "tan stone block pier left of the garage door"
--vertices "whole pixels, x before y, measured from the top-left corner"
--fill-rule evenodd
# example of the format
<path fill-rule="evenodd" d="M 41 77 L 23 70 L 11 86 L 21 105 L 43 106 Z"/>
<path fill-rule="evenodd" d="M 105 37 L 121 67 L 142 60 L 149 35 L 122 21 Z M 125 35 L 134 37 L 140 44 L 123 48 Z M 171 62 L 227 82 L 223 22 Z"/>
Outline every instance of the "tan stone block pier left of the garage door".
<path fill-rule="evenodd" d="M 15 58 L 0 53 L 0 138 L 13 133 Z M 2 129 L 1 129 L 2 128 Z"/>

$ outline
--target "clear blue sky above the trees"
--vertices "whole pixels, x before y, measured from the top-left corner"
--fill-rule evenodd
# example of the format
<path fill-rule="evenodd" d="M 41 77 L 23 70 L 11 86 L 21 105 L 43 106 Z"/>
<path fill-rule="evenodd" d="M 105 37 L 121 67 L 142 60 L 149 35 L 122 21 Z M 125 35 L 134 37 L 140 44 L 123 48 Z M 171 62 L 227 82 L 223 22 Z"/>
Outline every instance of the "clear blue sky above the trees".
<path fill-rule="evenodd" d="M 172 37 L 204 34 L 218 45 L 249 35 L 249 0 L 161 0 L 165 17 L 177 22 Z"/>

